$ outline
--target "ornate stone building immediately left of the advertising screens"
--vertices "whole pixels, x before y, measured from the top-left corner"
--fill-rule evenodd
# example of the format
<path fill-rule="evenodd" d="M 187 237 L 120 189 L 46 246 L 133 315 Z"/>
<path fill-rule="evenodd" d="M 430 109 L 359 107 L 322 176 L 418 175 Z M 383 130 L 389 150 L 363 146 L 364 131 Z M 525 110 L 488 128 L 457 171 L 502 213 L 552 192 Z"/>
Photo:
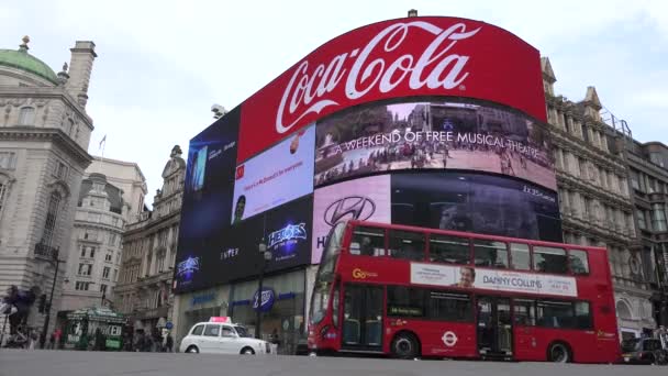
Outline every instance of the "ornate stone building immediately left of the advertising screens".
<path fill-rule="evenodd" d="M 135 333 L 149 334 L 171 320 L 185 173 L 186 162 L 177 145 L 163 170 L 163 188 L 154 197 L 153 211 L 140 213 L 140 220 L 125 228 L 114 307 L 130 317 Z"/>

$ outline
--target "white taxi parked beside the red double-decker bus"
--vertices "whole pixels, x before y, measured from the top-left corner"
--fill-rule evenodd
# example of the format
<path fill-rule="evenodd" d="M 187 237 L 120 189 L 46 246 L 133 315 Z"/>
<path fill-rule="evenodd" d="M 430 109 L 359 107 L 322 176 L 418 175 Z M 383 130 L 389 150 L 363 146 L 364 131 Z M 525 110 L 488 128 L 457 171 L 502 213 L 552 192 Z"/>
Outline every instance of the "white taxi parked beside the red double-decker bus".
<path fill-rule="evenodd" d="M 188 332 L 179 346 L 181 353 L 203 354 L 270 354 L 267 341 L 248 335 L 246 328 L 232 323 L 230 318 L 211 318 L 198 322 Z"/>

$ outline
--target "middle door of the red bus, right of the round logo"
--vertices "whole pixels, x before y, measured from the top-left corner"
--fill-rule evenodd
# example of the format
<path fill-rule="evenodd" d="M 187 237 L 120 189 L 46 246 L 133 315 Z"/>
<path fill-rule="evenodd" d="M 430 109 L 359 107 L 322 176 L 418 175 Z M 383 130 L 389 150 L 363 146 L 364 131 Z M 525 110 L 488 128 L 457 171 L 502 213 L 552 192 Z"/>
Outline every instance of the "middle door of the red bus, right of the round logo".
<path fill-rule="evenodd" d="M 477 308 L 478 353 L 482 356 L 511 356 L 510 298 L 478 297 Z"/>

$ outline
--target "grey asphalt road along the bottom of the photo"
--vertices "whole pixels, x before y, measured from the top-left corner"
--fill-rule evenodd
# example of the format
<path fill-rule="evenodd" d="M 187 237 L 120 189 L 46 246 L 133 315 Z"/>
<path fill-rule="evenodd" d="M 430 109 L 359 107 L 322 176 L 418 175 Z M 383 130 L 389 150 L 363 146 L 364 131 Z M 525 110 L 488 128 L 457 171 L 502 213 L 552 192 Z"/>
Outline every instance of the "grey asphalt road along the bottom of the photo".
<path fill-rule="evenodd" d="M 642 376 L 668 366 L 0 350 L 0 376 Z"/>

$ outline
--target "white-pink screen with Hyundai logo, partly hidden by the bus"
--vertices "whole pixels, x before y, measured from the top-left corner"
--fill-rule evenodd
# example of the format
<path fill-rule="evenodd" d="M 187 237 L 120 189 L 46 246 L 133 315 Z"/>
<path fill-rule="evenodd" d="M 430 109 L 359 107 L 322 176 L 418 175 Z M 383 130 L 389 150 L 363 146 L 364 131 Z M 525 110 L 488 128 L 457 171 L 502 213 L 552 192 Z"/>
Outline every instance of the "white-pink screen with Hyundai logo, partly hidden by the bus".
<path fill-rule="evenodd" d="M 315 190 L 311 259 L 313 264 L 320 263 L 330 230 L 345 220 L 390 223 L 390 175 L 369 176 Z"/>

